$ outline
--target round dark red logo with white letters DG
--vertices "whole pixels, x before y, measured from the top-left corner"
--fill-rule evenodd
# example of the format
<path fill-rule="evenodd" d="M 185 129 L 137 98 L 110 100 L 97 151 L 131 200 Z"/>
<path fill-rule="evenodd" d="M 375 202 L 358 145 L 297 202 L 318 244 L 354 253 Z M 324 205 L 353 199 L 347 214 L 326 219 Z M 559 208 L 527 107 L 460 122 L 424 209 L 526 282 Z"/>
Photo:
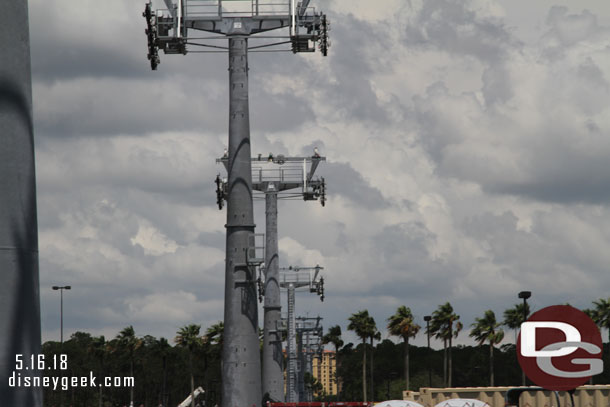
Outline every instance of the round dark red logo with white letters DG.
<path fill-rule="evenodd" d="M 517 349 L 526 376 L 548 390 L 572 390 L 604 369 L 597 325 L 569 305 L 532 314 L 521 324 Z"/>

